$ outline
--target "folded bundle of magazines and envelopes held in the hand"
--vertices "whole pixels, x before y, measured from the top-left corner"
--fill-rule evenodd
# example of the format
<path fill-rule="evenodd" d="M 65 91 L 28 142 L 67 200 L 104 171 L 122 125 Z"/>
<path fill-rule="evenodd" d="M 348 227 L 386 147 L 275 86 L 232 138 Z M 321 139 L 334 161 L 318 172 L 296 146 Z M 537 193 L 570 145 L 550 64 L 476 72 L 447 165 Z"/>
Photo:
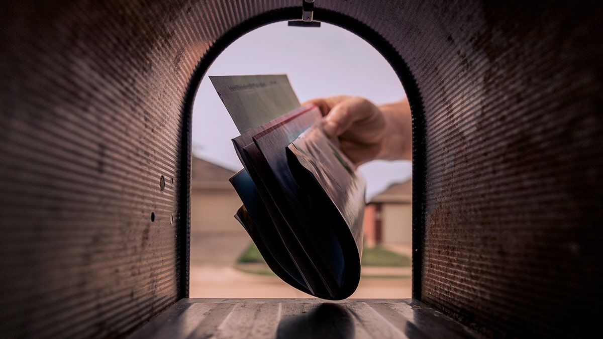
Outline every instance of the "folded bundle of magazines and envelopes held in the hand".
<path fill-rule="evenodd" d="M 241 133 L 235 218 L 283 281 L 322 299 L 358 287 L 365 182 L 286 75 L 210 77 Z"/>

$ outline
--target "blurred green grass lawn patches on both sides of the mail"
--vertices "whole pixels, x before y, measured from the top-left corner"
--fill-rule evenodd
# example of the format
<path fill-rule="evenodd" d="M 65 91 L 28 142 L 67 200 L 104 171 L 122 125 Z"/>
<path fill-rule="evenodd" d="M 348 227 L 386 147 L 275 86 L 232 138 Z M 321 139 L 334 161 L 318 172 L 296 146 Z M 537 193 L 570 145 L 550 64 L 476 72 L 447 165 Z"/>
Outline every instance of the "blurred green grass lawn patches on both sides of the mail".
<path fill-rule="evenodd" d="M 253 242 L 239 256 L 239 264 L 264 263 L 264 258 Z M 361 264 L 364 266 L 388 266 L 388 267 L 408 267 L 411 265 L 411 258 L 408 256 L 391 252 L 382 247 L 368 248 L 362 250 Z"/>

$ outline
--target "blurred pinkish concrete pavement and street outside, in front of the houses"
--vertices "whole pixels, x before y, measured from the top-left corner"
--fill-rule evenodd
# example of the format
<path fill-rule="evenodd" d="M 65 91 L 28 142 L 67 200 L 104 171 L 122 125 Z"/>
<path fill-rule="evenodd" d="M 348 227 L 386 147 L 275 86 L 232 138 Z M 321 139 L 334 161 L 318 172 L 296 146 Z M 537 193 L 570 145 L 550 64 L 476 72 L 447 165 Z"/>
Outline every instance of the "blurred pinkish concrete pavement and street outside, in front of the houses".
<path fill-rule="evenodd" d="M 238 270 L 236 259 L 250 243 L 242 232 L 194 232 L 191 236 L 190 296 L 203 298 L 308 298 L 274 274 Z M 410 246 L 384 246 L 411 255 Z M 264 271 L 267 267 L 264 265 Z M 248 266 L 253 268 L 253 265 Z M 261 268 L 261 267 L 257 267 Z M 352 298 L 411 297 L 410 267 L 362 267 Z"/>

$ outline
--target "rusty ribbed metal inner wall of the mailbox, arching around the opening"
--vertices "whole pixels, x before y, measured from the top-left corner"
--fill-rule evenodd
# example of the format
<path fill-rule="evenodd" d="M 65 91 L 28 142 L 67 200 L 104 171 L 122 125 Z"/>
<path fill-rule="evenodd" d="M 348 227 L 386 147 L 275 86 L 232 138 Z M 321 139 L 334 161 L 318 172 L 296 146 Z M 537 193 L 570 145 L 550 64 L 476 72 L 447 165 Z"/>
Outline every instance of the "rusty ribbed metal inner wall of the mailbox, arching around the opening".
<path fill-rule="evenodd" d="M 300 2 L 2 5 L 2 335 L 117 336 L 186 297 L 189 83 Z M 579 334 L 603 299 L 602 6 L 490 3 L 315 17 L 411 100 L 415 297 L 485 335 Z"/>

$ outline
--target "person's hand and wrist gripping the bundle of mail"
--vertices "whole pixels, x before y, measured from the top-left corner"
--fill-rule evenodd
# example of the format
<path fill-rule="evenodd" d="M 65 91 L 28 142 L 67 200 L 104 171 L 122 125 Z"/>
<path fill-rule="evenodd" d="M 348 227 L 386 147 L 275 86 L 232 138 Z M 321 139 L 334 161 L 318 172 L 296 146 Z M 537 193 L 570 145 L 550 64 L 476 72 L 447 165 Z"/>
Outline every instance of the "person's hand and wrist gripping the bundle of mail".
<path fill-rule="evenodd" d="M 375 106 L 359 97 L 338 96 L 306 101 L 320 108 L 323 129 L 339 138 L 341 150 L 356 165 L 374 159 L 412 159 L 408 100 Z"/>

